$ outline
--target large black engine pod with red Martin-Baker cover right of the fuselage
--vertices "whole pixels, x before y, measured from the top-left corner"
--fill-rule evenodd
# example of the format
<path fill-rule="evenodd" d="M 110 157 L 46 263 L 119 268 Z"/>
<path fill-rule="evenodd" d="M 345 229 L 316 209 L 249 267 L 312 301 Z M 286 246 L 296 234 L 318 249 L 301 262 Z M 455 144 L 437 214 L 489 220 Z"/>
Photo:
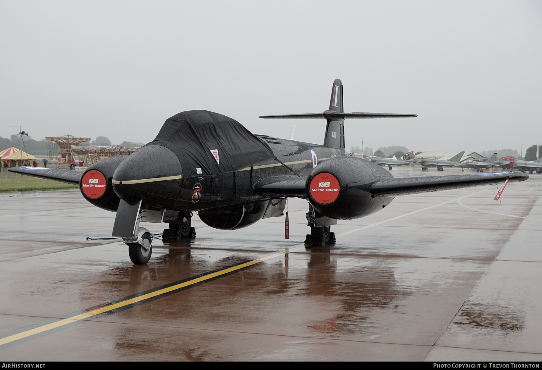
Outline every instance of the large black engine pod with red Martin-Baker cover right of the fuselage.
<path fill-rule="evenodd" d="M 307 199 L 323 215 L 357 219 L 387 206 L 393 197 L 370 193 L 372 184 L 393 177 L 377 164 L 356 157 L 337 157 L 321 162 L 307 177 Z"/>

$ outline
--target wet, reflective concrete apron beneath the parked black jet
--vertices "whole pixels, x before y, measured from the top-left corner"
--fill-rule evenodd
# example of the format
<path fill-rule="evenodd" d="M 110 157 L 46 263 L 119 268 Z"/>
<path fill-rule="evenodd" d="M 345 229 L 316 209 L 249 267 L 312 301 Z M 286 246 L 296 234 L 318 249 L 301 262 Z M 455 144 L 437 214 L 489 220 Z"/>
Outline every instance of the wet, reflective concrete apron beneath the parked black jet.
<path fill-rule="evenodd" d="M 494 186 L 397 197 L 308 250 L 303 200 L 289 200 L 290 239 L 283 218 L 228 232 L 195 216 L 195 240 L 157 241 L 143 266 L 85 240 L 111 235 L 114 214 L 77 190 L 3 193 L 0 359 L 540 360 L 541 183 L 508 184 L 502 207 Z"/>

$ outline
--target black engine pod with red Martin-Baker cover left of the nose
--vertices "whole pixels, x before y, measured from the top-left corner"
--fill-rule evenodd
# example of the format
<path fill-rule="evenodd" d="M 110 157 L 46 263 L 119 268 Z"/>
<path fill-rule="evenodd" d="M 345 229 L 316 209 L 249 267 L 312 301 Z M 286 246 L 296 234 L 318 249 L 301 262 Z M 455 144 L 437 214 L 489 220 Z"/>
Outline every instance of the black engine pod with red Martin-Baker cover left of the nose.
<path fill-rule="evenodd" d="M 117 212 L 120 198 L 113 190 L 113 174 L 127 157 L 105 158 L 88 166 L 79 182 L 81 194 L 87 201 L 96 207 Z"/>

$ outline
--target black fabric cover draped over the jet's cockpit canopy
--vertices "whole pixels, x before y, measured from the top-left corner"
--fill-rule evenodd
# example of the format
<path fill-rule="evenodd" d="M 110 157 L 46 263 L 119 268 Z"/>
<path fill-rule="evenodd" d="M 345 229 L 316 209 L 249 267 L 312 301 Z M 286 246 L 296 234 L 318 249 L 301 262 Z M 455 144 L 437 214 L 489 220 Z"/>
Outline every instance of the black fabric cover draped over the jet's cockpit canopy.
<path fill-rule="evenodd" d="M 184 177 L 227 173 L 274 158 L 273 152 L 235 119 L 209 111 L 185 111 L 166 120 L 154 141 L 173 151 Z M 218 151 L 218 161 L 212 151 Z"/>

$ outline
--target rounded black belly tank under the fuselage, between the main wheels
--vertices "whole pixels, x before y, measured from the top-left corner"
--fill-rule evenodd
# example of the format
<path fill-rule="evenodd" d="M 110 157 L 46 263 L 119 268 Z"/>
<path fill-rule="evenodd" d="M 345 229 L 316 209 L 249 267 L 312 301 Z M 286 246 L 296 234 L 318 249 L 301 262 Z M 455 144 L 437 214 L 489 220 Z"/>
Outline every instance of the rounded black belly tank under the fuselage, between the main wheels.
<path fill-rule="evenodd" d="M 198 211 L 199 218 L 210 227 L 222 230 L 235 230 L 250 226 L 262 219 L 269 201 L 259 201 L 246 205 L 232 205 Z"/>

